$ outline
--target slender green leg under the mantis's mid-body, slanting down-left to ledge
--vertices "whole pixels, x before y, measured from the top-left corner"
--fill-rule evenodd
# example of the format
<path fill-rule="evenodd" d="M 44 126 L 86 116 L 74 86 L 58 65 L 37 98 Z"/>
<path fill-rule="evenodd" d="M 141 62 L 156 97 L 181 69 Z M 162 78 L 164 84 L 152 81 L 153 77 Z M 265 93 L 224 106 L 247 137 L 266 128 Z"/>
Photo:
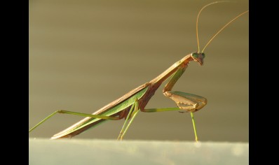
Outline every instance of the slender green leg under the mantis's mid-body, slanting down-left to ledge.
<path fill-rule="evenodd" d="M 130 127 L 130 124 L 132 123 L 132 121 L 135 119 L 135 116 L 137 115 L 137 113 L 139 112 L 139 103 L 138 103 L 138 100 L 136 99 L 135 100 L 135 103 L 132 104 L 131 108 L 130 108 L 130 111 L 126 117 L 126 120 L 123 124 L 123 127 L 120 131 L 120 134 L 117 138 L 117 140 L 120 140 L 122 141 L 123 139 L 123 136 L 125 135 L 126 131 L 128 130 L 128 128 Z M 131 118 L 131 119 L 130 119 Z M 130 122 L 128 123 L 128 125 L 126 126 L 128 120 L 130 119 Z"/>

